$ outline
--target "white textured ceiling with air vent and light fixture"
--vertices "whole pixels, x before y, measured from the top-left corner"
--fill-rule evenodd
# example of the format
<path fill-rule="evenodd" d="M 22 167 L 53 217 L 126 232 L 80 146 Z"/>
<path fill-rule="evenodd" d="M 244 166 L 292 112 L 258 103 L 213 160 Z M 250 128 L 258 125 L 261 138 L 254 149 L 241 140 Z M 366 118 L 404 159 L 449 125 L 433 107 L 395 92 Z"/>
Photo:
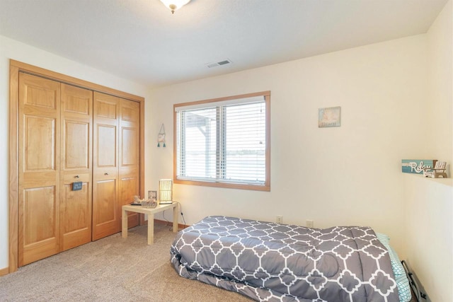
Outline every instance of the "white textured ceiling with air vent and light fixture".
<path fill-rule="evenodd" d="M 446 3 L 192 0 L 172 15 L 159 0 L 0 0 L 0 35 L 163 86 L 426 33 Z"/>

